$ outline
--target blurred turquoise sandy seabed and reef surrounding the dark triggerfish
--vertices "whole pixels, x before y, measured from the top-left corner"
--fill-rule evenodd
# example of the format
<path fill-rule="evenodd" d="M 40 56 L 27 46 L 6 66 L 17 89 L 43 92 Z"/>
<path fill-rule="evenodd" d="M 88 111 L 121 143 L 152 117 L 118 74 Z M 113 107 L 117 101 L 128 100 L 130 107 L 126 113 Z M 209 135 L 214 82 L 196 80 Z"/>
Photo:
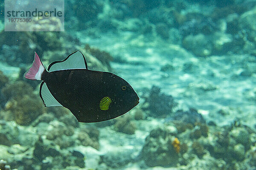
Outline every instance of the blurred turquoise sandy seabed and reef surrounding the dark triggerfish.
<path fill-rule="evenodd" d="M 3 29 L 1 170 L 256 170 L 255 0 L 65 0 L 63 32 Z M 140 104 L 99 123 L 45 108 L 34 52 L 76 50 Z"/>

